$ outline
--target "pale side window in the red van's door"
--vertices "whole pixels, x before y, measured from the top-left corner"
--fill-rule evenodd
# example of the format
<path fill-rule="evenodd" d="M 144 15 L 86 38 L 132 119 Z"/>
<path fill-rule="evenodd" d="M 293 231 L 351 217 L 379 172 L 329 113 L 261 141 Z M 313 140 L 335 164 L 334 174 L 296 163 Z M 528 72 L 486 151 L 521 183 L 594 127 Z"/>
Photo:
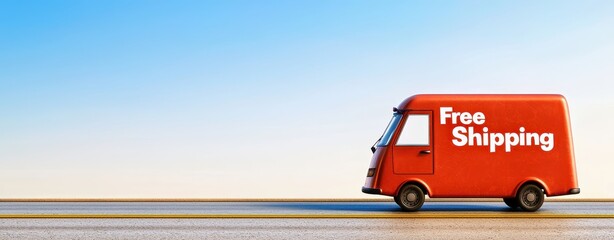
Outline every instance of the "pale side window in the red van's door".
<path fill-rule="evenodd" d="M 405 120 L 403 132 L 401 132 L 399 140 L 397 140 L 397 145 L 430 145 L 429 122 L 428 114 L 407 115 L 407 120 Z"/>

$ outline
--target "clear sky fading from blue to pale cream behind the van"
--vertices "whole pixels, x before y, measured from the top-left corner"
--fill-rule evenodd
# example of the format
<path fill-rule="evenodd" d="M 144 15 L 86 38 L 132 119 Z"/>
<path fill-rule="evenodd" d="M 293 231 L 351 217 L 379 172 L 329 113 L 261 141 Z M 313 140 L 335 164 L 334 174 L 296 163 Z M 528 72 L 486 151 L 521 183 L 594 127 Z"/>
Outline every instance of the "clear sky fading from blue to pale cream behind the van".
<path fill-rule="evenodd" d="M 367 197 L 417 93 L 562 93 L 614 197 L 609 1 L 2 1 L 0 197 Z"/>

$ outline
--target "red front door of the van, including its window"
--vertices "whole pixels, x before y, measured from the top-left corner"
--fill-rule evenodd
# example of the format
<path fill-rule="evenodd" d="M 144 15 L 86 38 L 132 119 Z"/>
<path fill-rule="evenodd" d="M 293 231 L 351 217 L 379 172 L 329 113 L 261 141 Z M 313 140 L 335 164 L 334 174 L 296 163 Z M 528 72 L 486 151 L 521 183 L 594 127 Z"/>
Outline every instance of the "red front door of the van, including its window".
<path fill-rule="evenodd" d="M 433 174 L 433 111 L 408 111 L 392 150 L 396 174 Z"/>

